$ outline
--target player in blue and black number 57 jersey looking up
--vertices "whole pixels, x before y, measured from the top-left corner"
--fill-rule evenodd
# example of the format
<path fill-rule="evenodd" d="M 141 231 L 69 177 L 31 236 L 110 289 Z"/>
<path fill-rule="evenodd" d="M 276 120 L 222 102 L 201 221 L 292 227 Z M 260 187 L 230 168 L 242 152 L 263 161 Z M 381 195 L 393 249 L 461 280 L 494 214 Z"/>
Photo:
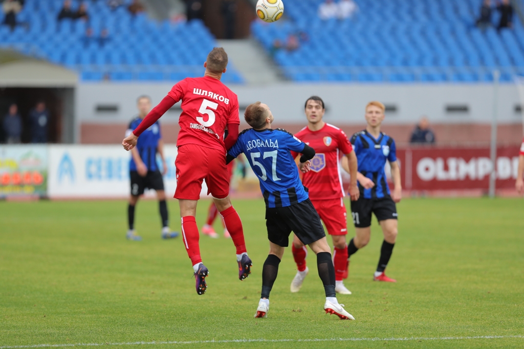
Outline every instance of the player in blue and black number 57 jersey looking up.
<path fill-rule="evenodd" d="M 257 102 L 249 105 L 244 116 L 252 128 L 239 134 L 235 145 L 227 153 L 227 162 L 233 161 L 241 153 L 246 155 L 249 165 L 258 176 L 260 190 L 266 202 L 269 255 L 262 269 L 262 292 L 255 317 L 267 317 L 269 293 L 277 278 L 284 248 L 289 244 L 289 235 L 293 231 L 316 254 L 316 264 L 325 290 L 326 313 L 336 314 L 341 319 L 354 320 L 336 299 L 331 247 L 290 153 L 294 151 L 302 154 L 299 167 L 302 172 L 308 172 L 309 160 L 313 159 L 315 151 L 291 133 L 271 129 L 274 118 L 265 104 Z"/>

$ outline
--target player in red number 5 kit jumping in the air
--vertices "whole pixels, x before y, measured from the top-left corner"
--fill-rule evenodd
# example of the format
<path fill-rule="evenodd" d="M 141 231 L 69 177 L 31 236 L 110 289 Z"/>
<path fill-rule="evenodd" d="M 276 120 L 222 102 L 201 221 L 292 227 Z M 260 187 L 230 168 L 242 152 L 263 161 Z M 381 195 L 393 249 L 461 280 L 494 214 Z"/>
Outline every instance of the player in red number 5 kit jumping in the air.
<path fill-rule="evenodd" d="M 224 220 L 236 247 L 238 278 L 243 280 L 251 273 L 251 260 L 247 256 L 244 231 L 238 213 L 231 205 L 226 153 L 238 138 L 238 98 L 220 81 L 226 72 L 227 53 L 214 48 L 204 63 L 203 77 L 186 78 L 174 85 L 162 102 L 156 106 L 122 142 L 125 150 L 133 149 L 142 132 L 155 123 L 175 103 L 182 100 L 179 118 L 177 190 L 184 246 L 193 265 L 196 293 L 203 295 L 208 268 L 200 256 L 200 233 L 196 226 L 196 204 L 200 198 L 202 183 L 208 185 L 216 208 Z M 225 129 L 228 136 L 224 140 Z"/>

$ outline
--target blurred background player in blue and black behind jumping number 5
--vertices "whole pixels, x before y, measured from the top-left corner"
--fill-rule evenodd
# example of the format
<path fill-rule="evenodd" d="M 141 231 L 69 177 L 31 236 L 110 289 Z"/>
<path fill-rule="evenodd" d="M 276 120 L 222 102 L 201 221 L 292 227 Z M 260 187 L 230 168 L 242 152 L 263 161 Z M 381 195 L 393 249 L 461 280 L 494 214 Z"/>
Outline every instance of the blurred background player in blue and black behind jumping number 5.
<path fill-rule="evenodd" d="M 151 98 L 140 96 L 137 99 L 138 117 L 129 123 L 126 137 L 140 124 L 151 110 Z M 162 171 L 157 164 L 157 153 L 162 159 Z M 129 177 L 131 179 L 131 196 L 127 208 L 129 230 L 127 239 L 140 241 L 142 238 L 135 231 L 135 206 L 140 195 L 146 188 L 155 189 L 159 201 L 160 217 L 162 219 L 162 238 L 172 239 L 178 237 L 177 232 L 169 229 L 169 216 L 167 211 L 166 193 L 164 192 L 162 175 L 167 173 L 166 160 L 163 153 L 162 133 L 160 123 L 157 121 L 141 134 L 136 147 L 131 150 L 132 158 L 129 162 Z"/>

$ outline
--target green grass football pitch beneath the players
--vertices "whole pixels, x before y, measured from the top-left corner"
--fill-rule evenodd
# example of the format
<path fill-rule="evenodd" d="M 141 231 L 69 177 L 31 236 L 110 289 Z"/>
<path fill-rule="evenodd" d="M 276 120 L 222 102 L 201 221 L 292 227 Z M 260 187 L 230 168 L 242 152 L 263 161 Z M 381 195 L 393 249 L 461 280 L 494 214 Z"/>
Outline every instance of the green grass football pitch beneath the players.
<path fill-rule="evenodd" d="M 179 229 L 178 204 L 169 205 Z M 199 206 L 199 227 L 208 205 Z M 524 347 L 520 199 L 401 202 L 387 270 L 396 284 L 372 281 L 383 240 L 374 221 L 372 241 L 352 257 L 346 285 L 353 295 L 339 296 L 356 321 L 324 314 L 312 253 L 302 290 L 290 294 L 291 251 L 280 264 L 269 318 L 254 319 L 268 251 L 264 202 L 234 205 L 253 274 L 238 280 L 231 240 L 201 237 L 210 276 L 208 292 L 198 296 L 182 240 L 160 239 L 155 201 L 137 207 L 141 242 L 125 239 L 124 201 L 0 202 L 0 348 Z"/>

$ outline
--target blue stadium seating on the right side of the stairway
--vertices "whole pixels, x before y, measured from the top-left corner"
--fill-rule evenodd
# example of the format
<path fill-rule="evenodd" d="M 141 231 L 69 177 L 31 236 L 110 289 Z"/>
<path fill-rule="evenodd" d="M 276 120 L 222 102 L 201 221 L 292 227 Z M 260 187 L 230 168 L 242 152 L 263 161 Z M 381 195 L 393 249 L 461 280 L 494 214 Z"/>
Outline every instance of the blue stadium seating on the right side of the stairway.
<path fill-rule="evenodd" d="M 321 20 L 323 0 L 286 0 L 287 20 L 255 21 L 253 35 L 296 82 L 501 82 L 524 74 L 524 27 L 475 27 L 481 0 L 356 0 L 352 19 Z M 275 40 L 307 38 L 275 52 Z"/>

